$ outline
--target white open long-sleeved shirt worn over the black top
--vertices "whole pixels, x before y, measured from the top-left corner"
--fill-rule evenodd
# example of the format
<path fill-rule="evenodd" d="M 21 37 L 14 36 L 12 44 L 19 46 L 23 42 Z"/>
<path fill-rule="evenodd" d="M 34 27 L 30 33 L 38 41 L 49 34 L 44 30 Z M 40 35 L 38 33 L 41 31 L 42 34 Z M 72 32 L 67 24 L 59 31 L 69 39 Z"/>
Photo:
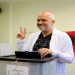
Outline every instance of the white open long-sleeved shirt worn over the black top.
<path fill-rule="evenodd" d="M 18 39 L 18 50 L 32 51 L 39 35 L 40 32 L 32 33 L 26 42 Z M 74 61 L 74 53 L 70 37 L 66 33 L 54 28 L 49 49 L 52 50 L 53 55 L 57 57 L 55 60 L 56 75 L 66 75 L 65 63 L 72 63 Z"/>

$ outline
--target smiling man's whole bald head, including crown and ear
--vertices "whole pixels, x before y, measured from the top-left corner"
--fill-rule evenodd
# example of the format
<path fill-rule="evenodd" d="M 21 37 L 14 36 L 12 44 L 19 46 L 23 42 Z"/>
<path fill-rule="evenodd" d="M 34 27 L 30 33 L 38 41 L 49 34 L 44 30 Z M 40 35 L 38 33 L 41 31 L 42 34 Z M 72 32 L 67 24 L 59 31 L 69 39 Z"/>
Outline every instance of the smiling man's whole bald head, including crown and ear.
<path fill-rule="evenodd" d="M 47 32 L 52 29 L 54 21 L 55 20 L 53 20 L 51 13 L 49 12 L 40 13 L 37 17 L 37 27 L 42 32 Z"/>

